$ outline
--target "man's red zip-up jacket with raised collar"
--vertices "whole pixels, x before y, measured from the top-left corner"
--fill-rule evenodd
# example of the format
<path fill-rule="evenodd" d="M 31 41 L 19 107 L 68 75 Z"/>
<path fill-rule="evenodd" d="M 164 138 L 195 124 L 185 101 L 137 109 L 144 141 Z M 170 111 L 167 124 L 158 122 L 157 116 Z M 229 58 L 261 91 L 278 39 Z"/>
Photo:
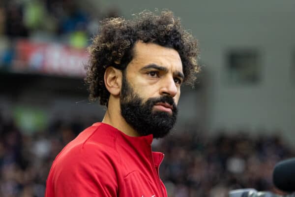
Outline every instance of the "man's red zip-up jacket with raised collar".
<path fill-rule="evenodd" d="M 159 178 L 164 154 L 151 151 L 152 139 L 93 124 L 56 157 L 45 197 L 167 197 Z"/>

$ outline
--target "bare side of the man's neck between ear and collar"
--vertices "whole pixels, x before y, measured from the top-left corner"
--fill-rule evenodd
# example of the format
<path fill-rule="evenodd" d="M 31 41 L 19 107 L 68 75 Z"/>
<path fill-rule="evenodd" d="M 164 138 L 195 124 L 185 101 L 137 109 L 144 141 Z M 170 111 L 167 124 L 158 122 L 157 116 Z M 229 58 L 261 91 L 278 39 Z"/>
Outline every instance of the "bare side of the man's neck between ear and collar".
<path fill-rule="evenodd" d="M 112 127 L 115 127 L 116 129 L 122 131 L 126 135 L 133 137 L 140 136 L 139 133 L 135 131 L 122 117 L 119 100 L 113 98 L 112 96 L 109 99 L 108 109 L 105 113 L 102 122 L 111 125 Z"/>

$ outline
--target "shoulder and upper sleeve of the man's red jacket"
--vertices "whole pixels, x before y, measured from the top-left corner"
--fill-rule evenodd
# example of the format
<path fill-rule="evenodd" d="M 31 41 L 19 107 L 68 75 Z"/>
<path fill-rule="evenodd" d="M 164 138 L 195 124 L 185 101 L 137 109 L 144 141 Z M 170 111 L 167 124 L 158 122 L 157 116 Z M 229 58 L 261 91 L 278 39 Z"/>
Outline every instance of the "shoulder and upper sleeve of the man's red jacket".
<path fill-rule="evenodd" d="M 112 137 L 105 138 L 100 134 L 101 131 L 96 127 L 90 127 L 64 147 L 52 164 L 47 179 L 49 188 L 59 191 L 61 196 L 65 196 L 63 188 L 68 188 L 69 194 L 77 196 L 82 191 L 101 193 L 98 190 L 108 186 L 115 194 L 118 189 L 120 158 L 116 147 L 112 145 L 114 143 L 106 141 Z M 99 140 L 95 135 L 100 135 Z"/>

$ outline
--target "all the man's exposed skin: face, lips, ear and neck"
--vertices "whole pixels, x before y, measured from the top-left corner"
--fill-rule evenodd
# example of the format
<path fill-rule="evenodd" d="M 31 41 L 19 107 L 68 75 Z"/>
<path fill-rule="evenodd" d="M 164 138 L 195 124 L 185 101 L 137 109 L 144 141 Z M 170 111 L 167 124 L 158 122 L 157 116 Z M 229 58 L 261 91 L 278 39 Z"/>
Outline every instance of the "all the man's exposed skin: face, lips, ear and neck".
<path fill-rule="evenodd" d="M 126 67 L 125 77 L 134 92 L 144 102 L 149 98 L 169 96 L 177 104 L 184 78 L 178 52 L 172 48 L 142 41 L 138 41 L 133 50 L 133 59 Z M 120 114 L 119 95 L 122 72 L 109 66 L 106 69 L 104 80 L 111 96 L 102 122 L 130 136 L 138 136 L 137 131 L 134 131 Z M 157 103 L 152 110 L 172 113 L 170 107 L 167 103 Z"/>

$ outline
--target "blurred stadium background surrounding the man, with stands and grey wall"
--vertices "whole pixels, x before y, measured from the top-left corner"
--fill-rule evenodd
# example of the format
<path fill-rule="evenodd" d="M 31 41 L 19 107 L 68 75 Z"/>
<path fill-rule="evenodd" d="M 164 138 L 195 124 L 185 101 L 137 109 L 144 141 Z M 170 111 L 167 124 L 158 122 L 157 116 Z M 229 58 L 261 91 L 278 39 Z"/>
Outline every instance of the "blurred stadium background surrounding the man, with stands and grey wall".
<path fill-rule="evenodd" d="M 43 197 L 62 147 L 102 120 L 83 84 L 98 22 L 155 7 L 199 39 L 203 67 L 153 142 L 169 197 L 280 192 L 273 166 L 295 157 L 294 0 L 1 0 L 0 197 Z"/>

